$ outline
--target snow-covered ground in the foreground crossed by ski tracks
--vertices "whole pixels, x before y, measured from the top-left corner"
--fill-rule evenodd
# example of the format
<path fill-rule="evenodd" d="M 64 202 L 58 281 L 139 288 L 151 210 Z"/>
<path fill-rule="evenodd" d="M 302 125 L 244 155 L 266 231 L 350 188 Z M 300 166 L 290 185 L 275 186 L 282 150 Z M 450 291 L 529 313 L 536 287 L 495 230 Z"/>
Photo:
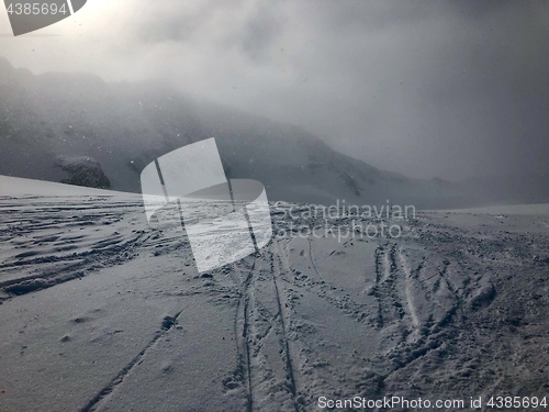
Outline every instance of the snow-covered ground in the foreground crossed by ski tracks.
<path fill-rule="evenodd" d="M 200 275 L 186 237 L 147 225 L 138 196 L 0 185 L 1 411 L 314 411 L 318 397 L 547 393 L 539 207 L 424 212 L 385 222 L 402 237 L 339 241 L 292 233 L 296 205 L 279 203 L 265 248 Z"/>

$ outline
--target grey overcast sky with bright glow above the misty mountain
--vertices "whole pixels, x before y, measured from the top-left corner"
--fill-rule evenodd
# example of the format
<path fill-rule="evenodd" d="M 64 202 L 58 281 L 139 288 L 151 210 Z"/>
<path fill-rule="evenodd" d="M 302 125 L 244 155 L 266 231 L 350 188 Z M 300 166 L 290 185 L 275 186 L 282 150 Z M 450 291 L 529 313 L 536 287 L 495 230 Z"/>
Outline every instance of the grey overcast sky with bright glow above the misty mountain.
<path fill-rule="evenodd" d="M 0 10 L 0 55 L 169 79 L 413 177 L 549 172 L 549 1 L 88 0 L 19 37 Z"/>

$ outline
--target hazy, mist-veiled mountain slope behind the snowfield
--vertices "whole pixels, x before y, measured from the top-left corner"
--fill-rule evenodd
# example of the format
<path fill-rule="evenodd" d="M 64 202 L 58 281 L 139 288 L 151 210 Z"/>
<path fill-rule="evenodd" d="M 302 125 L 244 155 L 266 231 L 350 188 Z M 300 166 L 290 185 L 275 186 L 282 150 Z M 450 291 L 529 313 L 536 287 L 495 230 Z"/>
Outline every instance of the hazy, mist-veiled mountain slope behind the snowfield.
<path fill-rule="evenodd" d="M 155 158 L 215 137 L 227 175 L 264 182 L 271 201 L 417 208 L 549 201 L 549 177 L 453 183 L 380 170 L 306 131 L 198 101 L 155 82 L 89 74 L 35 76 L 0 58 L 0 174 L 139 191 Z"/>

